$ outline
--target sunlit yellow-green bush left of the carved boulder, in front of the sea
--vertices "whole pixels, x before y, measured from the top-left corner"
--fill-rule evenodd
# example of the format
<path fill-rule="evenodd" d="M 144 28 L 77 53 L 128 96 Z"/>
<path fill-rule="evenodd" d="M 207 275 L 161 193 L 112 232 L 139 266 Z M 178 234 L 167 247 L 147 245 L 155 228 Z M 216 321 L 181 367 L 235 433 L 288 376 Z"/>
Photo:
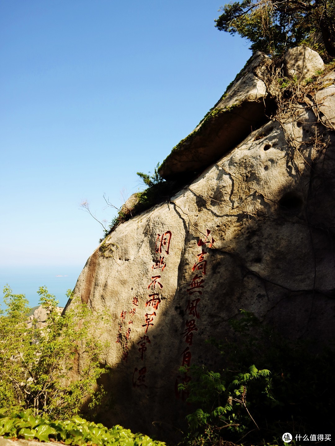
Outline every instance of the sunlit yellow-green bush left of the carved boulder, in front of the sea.
<path fill-rule="evenodd" d="M 85 402 L 93 408 L 104 394 L 96 380 L 108 369 L 99 363 L 103 345 L 92 334 L 96 335 L 106 316 L 92 314 L 76 299 L 72 310 L 61 316 L 58 301 L 45 287 L 38 294 L 48 314 L 42 328 L 36 320 L 30 327 L 27 324 L 25 296 L 13 294 L 8 285 L 4 288 L 7 309 L 0 310 L 0 407 L 33 409 L 34 415 L 68 418 Z M 79 344 L 84 351 L 80 358 L 82 372 L 71 381 Z"/>

